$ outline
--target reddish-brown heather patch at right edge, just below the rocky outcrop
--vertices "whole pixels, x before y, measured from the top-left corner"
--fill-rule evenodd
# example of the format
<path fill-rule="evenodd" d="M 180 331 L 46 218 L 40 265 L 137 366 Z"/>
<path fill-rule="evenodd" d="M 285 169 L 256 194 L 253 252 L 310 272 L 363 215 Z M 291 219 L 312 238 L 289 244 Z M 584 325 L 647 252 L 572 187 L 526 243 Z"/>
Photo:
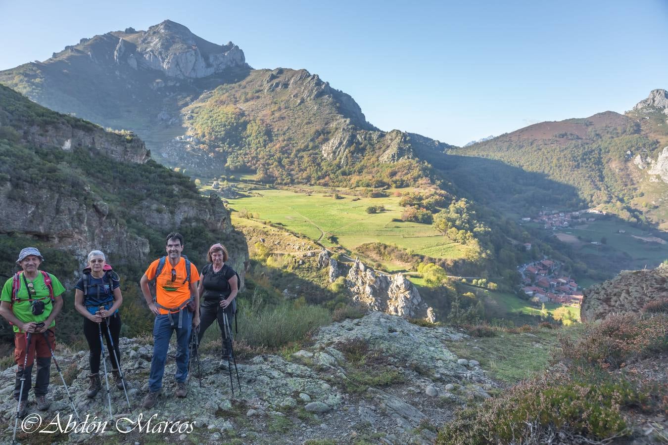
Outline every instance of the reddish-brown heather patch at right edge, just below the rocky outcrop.
<path fill-rule="evenodd" d="M 567 361 L 617 369 L 631 358 L 668 350 L 668 315 L 611 315 L 601 324 L 588 326 L 582 340 L 561 336 L 559 342 L 559 354 Z"/>

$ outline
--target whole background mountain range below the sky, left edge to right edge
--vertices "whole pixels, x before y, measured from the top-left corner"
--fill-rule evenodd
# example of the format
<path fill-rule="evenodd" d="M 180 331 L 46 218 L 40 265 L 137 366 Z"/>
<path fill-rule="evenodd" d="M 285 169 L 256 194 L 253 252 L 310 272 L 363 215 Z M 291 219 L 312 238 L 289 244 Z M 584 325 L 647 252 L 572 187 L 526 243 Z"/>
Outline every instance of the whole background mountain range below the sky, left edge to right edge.
<path fill-rule="evenodd" d="M 444 195 L 411 205 L 447 206 L 466 197 L 496 237 L 480 238 L 493 250 L 480 253 L 489 267 L 504 251 L 512 258 L 504 266 L 512 268 L 522 257 L 516 242 L 528 240 L 499 212 L 515 218 L 546 203 L 599 205 L 631 221 L 668 220 L 663 90 L 626 115 L 538 123 L 459 148 L 381 131 L 350 95 L 318 75 L 253 69 L 233 43 L 205 41 L 173 21 L 81 39 L 46 61 L 0 71 L 0 83 L 62 113 L 130 129 L 154 159 L 190 175 L 253 172 L 278 184 L 440 187 Z M 443 208 L 437 207 L 432 211 Z"/>

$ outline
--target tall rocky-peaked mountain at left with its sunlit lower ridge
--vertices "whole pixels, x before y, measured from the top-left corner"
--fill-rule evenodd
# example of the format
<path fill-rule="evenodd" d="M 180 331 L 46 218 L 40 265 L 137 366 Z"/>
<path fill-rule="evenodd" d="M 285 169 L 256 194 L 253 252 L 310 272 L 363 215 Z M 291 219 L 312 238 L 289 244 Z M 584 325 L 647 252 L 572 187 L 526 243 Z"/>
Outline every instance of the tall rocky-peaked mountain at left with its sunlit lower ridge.
<path fill-rule="evenodd" d="M 253 169 L 281 183 L 407 183 L 425 175 L 422 151 L 450 147 L 379 131 L 317 75 L 253 70 L 233 43 L 169 20 L 81 39 L 43 63 L 0 72 L 0 83 L 56 111 L 131 129 L 160 162 L 204 175 Z"/>

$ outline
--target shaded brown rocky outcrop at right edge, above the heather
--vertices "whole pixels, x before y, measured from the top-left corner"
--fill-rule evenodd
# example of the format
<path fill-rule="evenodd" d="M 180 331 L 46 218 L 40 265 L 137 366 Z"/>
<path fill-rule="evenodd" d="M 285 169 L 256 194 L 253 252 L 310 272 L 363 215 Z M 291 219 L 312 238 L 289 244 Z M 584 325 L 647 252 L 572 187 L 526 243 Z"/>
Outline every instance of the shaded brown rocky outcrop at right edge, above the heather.
<path fill-rule="evenodd" d="M 640 312 L 647 303 L 668 298 L 668 266 L 653 270 L 625 270 L 607 282 L 585 290 L 580 308 L 582 322 L 594 322 L 608 314 Z"/>

